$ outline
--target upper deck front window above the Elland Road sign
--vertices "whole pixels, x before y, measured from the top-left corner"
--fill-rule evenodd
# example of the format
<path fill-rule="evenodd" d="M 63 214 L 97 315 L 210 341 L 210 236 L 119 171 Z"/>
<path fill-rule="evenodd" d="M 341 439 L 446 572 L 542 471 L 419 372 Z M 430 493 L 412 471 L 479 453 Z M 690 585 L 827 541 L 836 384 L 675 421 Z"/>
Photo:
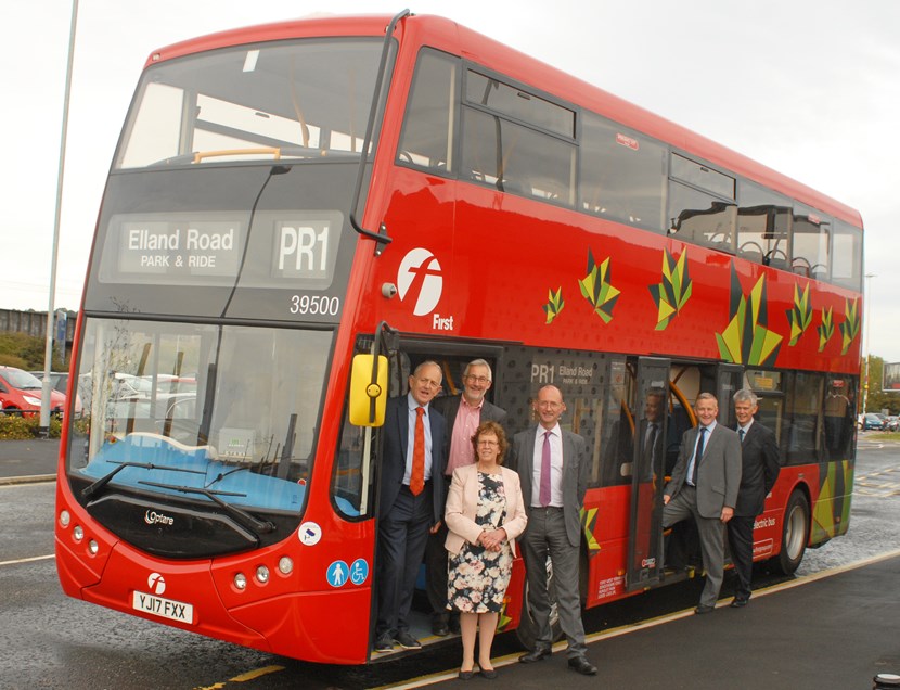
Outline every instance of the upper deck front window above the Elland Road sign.
<path fill-rule="evenodd" d="M 308 39 L 153 66 L 115 167 L 356 157 L 380 51 L 380 39 Z"/>

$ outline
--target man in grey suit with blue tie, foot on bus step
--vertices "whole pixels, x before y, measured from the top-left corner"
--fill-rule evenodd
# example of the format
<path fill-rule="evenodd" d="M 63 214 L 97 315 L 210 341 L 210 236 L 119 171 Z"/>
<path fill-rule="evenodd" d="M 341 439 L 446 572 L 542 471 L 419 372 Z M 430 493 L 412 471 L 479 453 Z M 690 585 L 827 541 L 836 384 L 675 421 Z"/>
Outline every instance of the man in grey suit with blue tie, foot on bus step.
<path fill-rule="evenodd" d="M 663 494 L 663 527 L 693 515 L 700 537 L 706 585 L 694 613 L 716 609 L 724 572 L 724 525 L 734 515 L 741 486 L 741 442 L 716 423 L 719 403 L 700 393 L 694 406 L 699 425 L 684 432 L 678 462 Z"/>

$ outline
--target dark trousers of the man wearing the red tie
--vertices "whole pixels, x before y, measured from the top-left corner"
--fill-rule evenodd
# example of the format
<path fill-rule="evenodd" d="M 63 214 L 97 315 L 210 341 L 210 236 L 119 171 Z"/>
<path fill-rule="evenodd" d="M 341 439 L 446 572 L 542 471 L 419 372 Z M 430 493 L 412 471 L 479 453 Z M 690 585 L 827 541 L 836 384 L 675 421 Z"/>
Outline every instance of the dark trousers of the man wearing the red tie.
<path fill-rule="evenodd" d="M 419 496 L 403 485 L 378 523 L 378 616 L 375 636 L 409 631 L 415 578 L 432 526 L 432 483 Z"/>

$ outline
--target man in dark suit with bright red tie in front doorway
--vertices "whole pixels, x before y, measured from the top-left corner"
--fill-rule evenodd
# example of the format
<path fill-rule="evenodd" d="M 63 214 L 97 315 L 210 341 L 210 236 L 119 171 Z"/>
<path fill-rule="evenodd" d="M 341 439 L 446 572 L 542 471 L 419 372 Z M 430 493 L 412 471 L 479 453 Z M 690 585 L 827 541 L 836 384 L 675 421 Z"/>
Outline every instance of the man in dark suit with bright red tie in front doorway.
<path fill-rule="evenodd" d="M 443 519 L 446 422 L 429 409 L 441 383 L 440 367 L 426 361 L 409 378 L 408 395 L 387 401 L 378 503 L 378 614 L 375 651 L 397 641 L 420 649 L 409 629 L 415 578 L 428 533 Z"/>

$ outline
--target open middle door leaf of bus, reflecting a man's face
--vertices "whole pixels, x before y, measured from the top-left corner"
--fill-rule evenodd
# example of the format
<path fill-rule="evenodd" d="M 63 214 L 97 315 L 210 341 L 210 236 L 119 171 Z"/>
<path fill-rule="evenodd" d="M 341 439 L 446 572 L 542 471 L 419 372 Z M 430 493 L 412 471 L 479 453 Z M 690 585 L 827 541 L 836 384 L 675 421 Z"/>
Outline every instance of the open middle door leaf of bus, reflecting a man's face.
<path fill-rule="evenodd" d="M 669 360 L 638 361 L 628 537 L 628 591 L 657 584 L 663 573 L 663 488 Z"/>

